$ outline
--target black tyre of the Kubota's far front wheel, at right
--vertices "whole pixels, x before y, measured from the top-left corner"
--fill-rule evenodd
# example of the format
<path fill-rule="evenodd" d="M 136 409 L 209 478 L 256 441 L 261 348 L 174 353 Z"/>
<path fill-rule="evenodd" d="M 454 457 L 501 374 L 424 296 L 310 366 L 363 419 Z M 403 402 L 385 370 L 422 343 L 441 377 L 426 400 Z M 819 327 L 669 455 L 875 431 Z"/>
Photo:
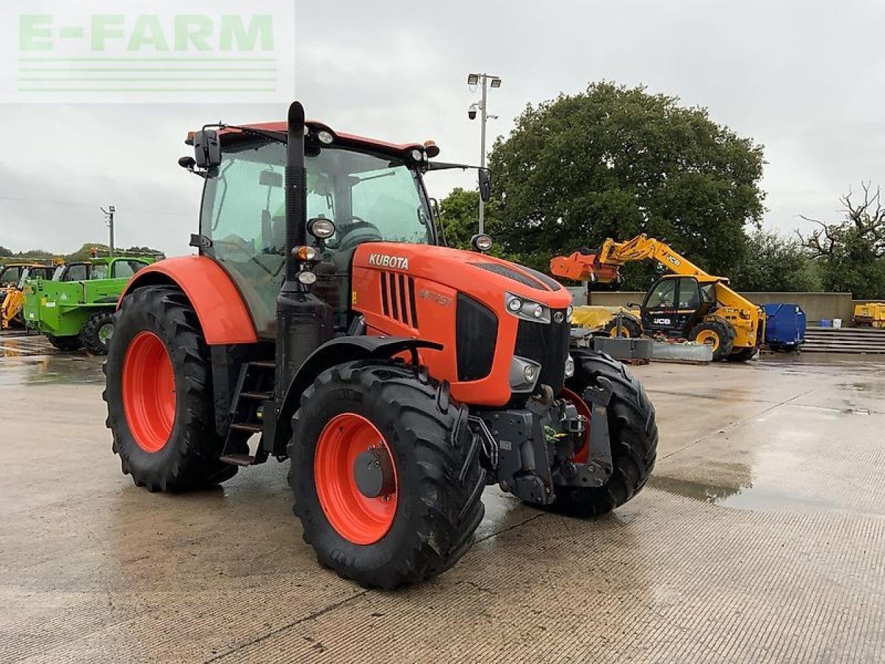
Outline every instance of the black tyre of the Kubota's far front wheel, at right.
<path fill-rule="evenodd" d="M 642 384 L 619 361 L 604 353 L 572 350 L 574 375 L 566 381 L 566 398 L 578 398 L 599 377 L 612 382 L 608 405 L 609 437 L 612 442 L 613 472 L 601 487 L 556 486 L 550 509 L 581 516 L 611 512 L 633 498 L 651 475 L 658 454 L 658 425 L 655 408 Z M 589 413 L 589 405 L 579 412 Z M 579 450 L 576 459 L 587 458 Z"/>

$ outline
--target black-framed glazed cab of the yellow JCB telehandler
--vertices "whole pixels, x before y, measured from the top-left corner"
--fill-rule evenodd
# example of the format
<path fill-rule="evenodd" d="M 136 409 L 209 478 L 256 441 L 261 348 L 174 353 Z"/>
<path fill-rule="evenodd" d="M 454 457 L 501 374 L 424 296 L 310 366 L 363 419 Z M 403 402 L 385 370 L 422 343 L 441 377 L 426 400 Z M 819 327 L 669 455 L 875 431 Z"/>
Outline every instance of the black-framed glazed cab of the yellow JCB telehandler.
<path fill-rule="evenodd" d="M 643 329 L 650 334 L 686 336 L 716 307 L 715 280 L 665 274 L 645 294 Z"/>

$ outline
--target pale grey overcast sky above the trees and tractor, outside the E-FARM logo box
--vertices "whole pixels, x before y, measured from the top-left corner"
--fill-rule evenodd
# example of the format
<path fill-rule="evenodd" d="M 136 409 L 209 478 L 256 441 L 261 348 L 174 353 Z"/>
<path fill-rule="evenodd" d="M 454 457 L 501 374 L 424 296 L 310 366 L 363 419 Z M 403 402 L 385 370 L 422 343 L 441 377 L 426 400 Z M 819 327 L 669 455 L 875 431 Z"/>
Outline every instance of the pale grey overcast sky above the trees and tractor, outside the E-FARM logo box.
<path fill-rule="evenodd" d="M 787 233 L 885 181 L 883 19 L 883 2 L 832 0 L 298 0 L 296 94 L 331 127 L 432 138 L 440 158 L 477 163 L 468 72 L 504 79 L 491 137 L 527 103 L 643 83 L 765 145 L 766 227 Z M 105 237 L 98 207 L 112 204 L 119 245 L 187 252 L 201 181 L 176 165 L 185 133 L 280 120 L 286 105 L 0 104 L 0 244 L 72 251 Z M 428 175 L 437 197 L 458 184 L 473 177 Z"/>

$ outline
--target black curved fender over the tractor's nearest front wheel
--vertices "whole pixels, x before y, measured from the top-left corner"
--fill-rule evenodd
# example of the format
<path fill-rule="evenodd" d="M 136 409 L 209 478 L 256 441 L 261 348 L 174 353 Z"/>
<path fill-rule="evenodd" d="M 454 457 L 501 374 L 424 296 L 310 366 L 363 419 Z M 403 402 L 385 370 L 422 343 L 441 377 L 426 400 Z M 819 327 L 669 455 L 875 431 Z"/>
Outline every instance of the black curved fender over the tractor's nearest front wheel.
<path fill-rule="evenodd" d="M 275 414 L 273 436 L 266 436 L 266 444 L 270 446 L 268 452 L 275 456 L 286 454 L 286 446 L 292 437 L 292 417 L 301 404 L 301 395 L 327 368 L 358 359 L 389 359 L 404 351 L 411 354 L 412 364 L 418 364 L 419 348 L 442 351 L 443 345 L 397 336 L 339 336 L 319 346 L 304 360 L 286 390 L 280 411 Z M 269 414 L 265 413 L 265 418 Z"/>

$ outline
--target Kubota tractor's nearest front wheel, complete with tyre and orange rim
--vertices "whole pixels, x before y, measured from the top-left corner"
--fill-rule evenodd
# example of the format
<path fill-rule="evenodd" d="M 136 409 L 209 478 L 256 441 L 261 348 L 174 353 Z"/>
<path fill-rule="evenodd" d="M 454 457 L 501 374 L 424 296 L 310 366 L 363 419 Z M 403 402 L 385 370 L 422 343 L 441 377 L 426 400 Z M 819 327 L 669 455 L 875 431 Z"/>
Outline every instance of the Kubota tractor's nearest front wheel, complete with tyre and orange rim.
<path fill-rule="evenodd" d="M 292 428 L 292 510 L 322 565 L 390 590 L 442 573 L 473 544 L 486 475 L 446 383 L 347 362 L 304 391 Z"/>

